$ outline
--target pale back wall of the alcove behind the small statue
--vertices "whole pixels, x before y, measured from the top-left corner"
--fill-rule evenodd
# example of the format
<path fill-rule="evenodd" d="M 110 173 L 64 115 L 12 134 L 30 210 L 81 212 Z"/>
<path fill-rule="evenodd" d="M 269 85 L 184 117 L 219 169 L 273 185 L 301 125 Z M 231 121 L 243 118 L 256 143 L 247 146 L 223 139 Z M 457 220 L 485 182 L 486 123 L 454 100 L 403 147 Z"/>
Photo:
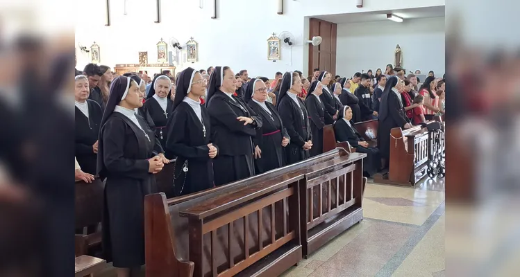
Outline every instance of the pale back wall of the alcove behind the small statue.
<path fill-rule="evenodd" d="M 352 76 L 369 69 L 376 73 L 394 64 L 396 45 L 401 46 L 403 66 L 442 76 L 444 67 L 444 17 L 410 19 L 403 23 L 373 21 L 337 25 L 336 73 Z"/>

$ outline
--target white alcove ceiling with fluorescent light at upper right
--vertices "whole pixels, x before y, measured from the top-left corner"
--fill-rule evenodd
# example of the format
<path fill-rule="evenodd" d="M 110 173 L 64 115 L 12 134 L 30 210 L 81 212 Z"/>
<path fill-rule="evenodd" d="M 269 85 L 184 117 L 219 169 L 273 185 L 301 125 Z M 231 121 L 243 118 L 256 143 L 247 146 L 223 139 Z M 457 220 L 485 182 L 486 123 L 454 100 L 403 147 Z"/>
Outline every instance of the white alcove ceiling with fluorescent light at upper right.
<path fill-rule="evenodd" d="M 398 17 L 403 17 L 405 20 L 429 17 L 444 17 L 444 6 L 411 8 L 406 10 L 379 10 L 377 12 L 357 12 L 346 13 L 342 15 L 318 15 L 314 17 L 336 24 L 345 24 L 354 22 L 384 21 L 387 20 L 387 13 L 392 13 Z"/>

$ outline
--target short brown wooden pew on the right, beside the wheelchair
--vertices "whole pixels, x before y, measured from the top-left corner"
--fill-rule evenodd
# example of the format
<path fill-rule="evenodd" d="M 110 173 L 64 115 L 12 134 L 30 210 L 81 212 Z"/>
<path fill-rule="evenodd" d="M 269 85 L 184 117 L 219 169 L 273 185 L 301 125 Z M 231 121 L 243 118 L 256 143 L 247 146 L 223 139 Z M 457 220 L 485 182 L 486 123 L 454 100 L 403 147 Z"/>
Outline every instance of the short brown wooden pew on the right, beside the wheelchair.
<path fill-rule="evenodd" d="M 431 124 L 430 121 L 427 124 Z M 435 143 L 437 136 L 439 145 Z M 444 133 L 430 133 L 428 129 L 414 126 L 410 129 L 393 128 L 390 131 L 389 171 L 386 175 L 374 175 L 376 183 L 415 186 L 426 176 L 428 158 L 434 152 L 444 150 Z"/>

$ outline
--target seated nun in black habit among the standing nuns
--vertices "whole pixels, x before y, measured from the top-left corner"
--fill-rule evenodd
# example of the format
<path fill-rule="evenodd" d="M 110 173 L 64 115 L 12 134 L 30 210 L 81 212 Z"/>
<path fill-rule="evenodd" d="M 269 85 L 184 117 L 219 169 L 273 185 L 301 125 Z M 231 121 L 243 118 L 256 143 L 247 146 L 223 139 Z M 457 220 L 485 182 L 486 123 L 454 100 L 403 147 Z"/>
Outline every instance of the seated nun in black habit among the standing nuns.
<path fill-rule="evenodd" d="M 334 123 L 334 134 L 336 141 L 348 141 L 355 148 L 356 152 L 367 154 L 367 158 L 363 159 L 363 175 L 371 177 L 381 168 L 381 156 L 378 148 L 371 147 L 363 136 L 354 127 L 352 120 L 352 109 L 345 106 L 342 110 L 342 119 L 338 119 Z"/>

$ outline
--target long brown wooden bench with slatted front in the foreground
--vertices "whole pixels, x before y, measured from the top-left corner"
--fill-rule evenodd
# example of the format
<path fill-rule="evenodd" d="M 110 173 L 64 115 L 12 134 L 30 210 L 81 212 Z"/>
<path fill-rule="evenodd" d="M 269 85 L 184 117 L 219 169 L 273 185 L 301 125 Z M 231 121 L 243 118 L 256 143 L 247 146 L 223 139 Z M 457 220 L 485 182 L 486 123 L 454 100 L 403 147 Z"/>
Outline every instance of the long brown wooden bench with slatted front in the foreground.
<path fill-rule="evenodd" d="M 365 156 L 337 148 L 192 195 L 146 196 L 146 276 L 278 276 L 362 219 L 354 171 Z"/>

